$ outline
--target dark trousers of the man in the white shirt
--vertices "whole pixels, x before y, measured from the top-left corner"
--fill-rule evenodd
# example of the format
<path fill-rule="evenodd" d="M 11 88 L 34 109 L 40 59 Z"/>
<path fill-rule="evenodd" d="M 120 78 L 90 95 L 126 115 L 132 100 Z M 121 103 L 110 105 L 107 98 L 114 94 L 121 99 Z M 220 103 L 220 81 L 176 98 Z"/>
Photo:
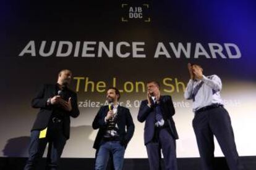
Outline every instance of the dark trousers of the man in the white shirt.
<path fill-rule="evenodd" d="M 229 169 L 244 169 L 242 164 L 239 163 L 231 119 L 226 109 L 218 107 L 195 113 L 192 123 L 197 138 L 203 170 L 214 169 L 213 160 L 215 145 L 213 135 L 220 144 Z"/>

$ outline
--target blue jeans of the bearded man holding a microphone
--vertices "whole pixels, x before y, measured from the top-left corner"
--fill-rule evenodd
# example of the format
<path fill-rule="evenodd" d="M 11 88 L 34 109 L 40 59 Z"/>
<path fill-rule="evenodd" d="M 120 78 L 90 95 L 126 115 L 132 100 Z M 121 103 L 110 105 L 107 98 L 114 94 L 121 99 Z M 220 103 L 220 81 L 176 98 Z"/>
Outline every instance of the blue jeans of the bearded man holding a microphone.
<path fill-rule="evenodd" d="M 101 142 L 98 153 L 96 153 L 95 170 L 106 169 L 109 155 L 113 155 L 113 163 L 115 170 L 121 170 L 124 164 L 125 148 L 119 141 L 103 141 Z"/>

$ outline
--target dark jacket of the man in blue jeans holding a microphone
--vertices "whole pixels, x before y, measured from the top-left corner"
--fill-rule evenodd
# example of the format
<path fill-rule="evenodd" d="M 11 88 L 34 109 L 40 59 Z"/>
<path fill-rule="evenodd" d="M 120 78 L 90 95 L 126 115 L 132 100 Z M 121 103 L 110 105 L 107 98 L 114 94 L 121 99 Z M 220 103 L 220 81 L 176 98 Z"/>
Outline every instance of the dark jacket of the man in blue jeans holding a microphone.
<path fill-rule="evenodd" d="M 95 116 L 95 119 L 93 120 L 93 129 L 99 129 L 93 145 L 93 148 L 95 149 L 98 149 L 100 147 L 100 142 L 105 135 L 107 127 L 107 124 L 105 123 L 105 117 L 108 111 L 108 105 L 101 107 L 97 115 Z M 124 147 L 126 148 L 128 142 L 130 141 L 130 139 L 132 139 L 132 136 L 134 135 L 134 121 L 132 120 L 129 109 L 121 107 L 120 105 L 117 107 L 117 126 L 119 128 L 117 131 L 117 133 L 119 134 L 119 140 L 121 144 L 124 145 Z"/>

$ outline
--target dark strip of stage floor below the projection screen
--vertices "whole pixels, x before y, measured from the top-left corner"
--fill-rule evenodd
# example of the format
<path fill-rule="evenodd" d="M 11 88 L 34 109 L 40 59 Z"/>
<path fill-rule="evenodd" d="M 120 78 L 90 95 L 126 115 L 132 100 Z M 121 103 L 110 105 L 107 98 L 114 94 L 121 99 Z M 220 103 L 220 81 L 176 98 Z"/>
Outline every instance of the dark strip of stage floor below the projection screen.
<path fill-rule="evenodd" d="M 27 158 L 0 158 L 1 170 L 21 170 L 25 166 Z M 201 170 L 199 158 L 178 158 L 179 170 Z M 226 160 L 223 157 L 215 158 L 216 168 L 218 170 L 228 170 Z M 256 156 L 242 156 L 241 162 L 247 170 L 256 169 Z M 43 158 L 38 164 L 38 170 L 45 170 L 46 159 Z M 61 158 L 61 165 L 59 169 L 62 170 L 87 170 L 93 169 L 93 158 Z M 163 167 L 163 166 L 162 166 Z M 108 168 L 110 169 L 110 168 Z M 147 159 L 125 159 L 124 169 L 126 170 L 148 170 Z"/>

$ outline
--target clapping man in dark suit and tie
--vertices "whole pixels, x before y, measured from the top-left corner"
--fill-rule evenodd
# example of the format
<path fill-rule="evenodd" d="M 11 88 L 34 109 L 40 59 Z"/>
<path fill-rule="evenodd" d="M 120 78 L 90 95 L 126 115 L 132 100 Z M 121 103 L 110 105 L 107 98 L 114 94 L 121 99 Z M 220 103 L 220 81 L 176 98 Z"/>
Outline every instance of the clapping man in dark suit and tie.
<path fill-rule="evenodd" d="M 175 114 L 173 101 L 169 95 L 160 95 L 158 82 L 148 82 L 147 88 L 147 100 L 140 105 L 138 120 L 145 121 L 144 144 L 150 169 L 161 169 L 162 149 L 165 169 L 176 170 L 176 139 L 179 137 L 172 118 Z"/>

